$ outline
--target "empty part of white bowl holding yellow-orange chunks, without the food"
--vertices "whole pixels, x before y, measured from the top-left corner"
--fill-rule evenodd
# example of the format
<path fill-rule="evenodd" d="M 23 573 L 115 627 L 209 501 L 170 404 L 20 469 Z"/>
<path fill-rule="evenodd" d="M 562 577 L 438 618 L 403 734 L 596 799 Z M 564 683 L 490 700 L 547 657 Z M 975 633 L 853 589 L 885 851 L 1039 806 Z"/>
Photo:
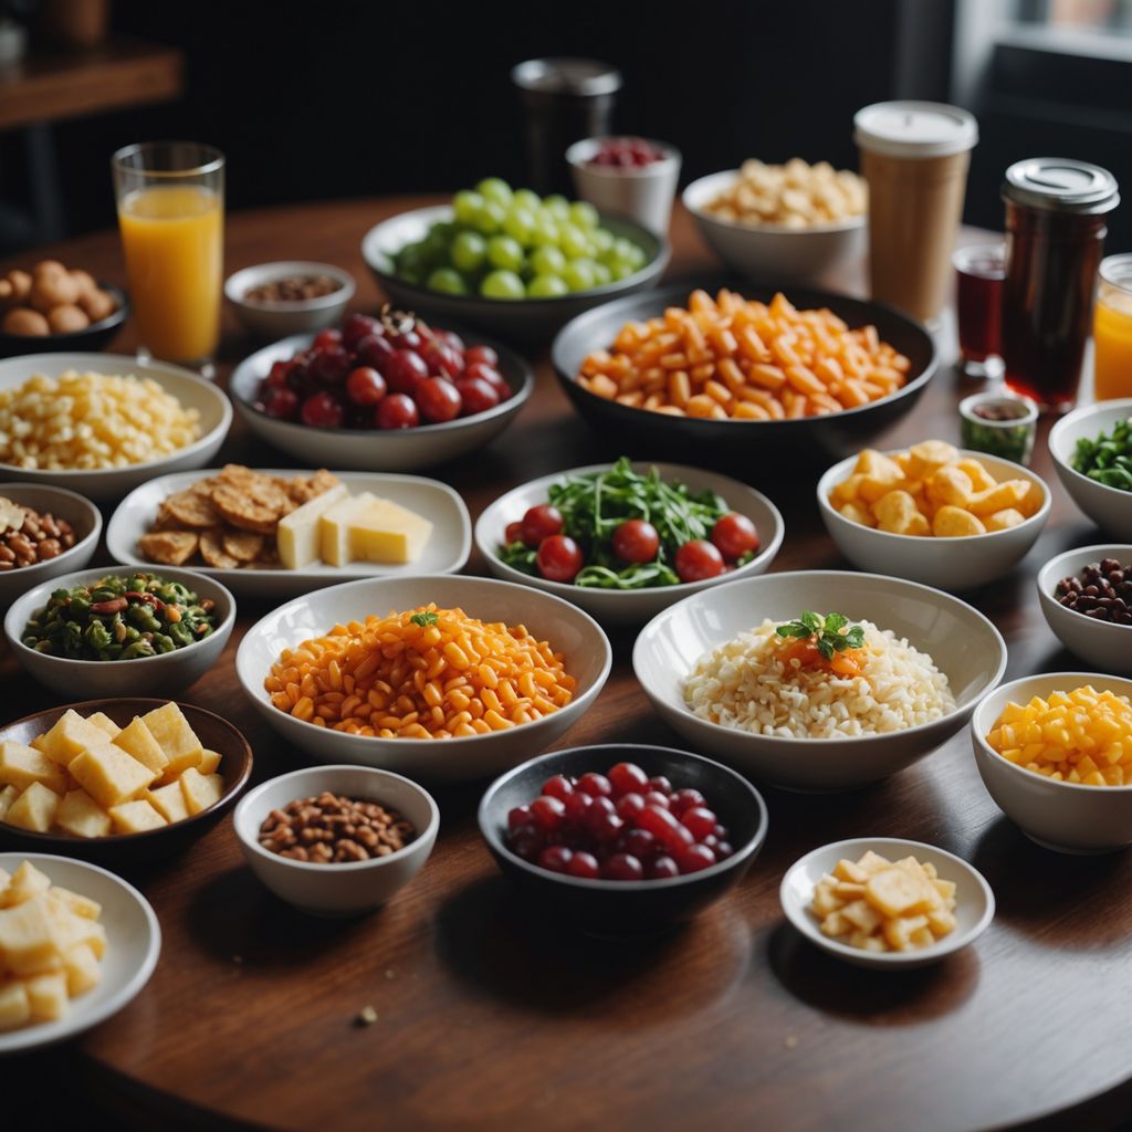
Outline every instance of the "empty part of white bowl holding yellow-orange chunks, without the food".
<path fill-rule="evenodd" d="M 891 456 L 895 451 L 900 449 L 892 449 L 885 455 Z M 996 480 L 1037 483 L 1045 497 L 1041 508 L 1018 526 L 959 539 L 878 531 L 846 518 L 830 503 L 830 492 L 849 478 L 857 463 L 856 456 L 849 456 L 834 464 L 817 481 L 817 509 L 838 550 L 858 569 L 891 574 L 949 591 L 969 590 L 1009 574 L 1029 554 L 1046 525 L 1052 506 L 1049 488 L 1040 477 L 1021 464 L 988 456 L 984 452 L 962 449 L 960 455 L 979 461 Z"/>

